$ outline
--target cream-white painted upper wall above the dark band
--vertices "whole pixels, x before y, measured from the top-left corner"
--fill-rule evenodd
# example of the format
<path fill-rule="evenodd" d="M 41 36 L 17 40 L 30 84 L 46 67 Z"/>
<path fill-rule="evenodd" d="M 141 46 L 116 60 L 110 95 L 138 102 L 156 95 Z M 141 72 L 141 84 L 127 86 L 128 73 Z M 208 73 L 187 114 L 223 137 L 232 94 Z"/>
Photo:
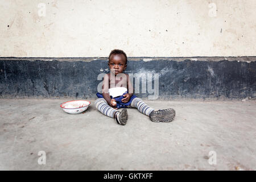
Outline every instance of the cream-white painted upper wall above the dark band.
<path fill-rule="evenodd" d="M 0 57 L 256 56 L 255 0 L 0 2 Z"/>

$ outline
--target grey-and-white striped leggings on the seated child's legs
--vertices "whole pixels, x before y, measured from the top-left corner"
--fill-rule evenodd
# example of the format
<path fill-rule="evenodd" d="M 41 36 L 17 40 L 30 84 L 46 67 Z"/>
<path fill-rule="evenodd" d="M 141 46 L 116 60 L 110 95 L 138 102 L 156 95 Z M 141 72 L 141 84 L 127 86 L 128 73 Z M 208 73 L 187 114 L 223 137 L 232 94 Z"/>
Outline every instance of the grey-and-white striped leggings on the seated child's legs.
<path fill-rule="evenodd" d="M 114 118 L 114 112 L 117 111 L 117 109 L 113 109 L 113 107 L 108 105 L 108 102 L 104 98 L 98 98 L 95 101 L 96 108 L 104 115 L 107 115 L 108 117 Z M 146 105 L 141 98 L 134 98 L 131 104 L 127 107 L 136 107 L 141 113 L 150 115 L 154 109 L 152 109 L 150 106 Z"/>

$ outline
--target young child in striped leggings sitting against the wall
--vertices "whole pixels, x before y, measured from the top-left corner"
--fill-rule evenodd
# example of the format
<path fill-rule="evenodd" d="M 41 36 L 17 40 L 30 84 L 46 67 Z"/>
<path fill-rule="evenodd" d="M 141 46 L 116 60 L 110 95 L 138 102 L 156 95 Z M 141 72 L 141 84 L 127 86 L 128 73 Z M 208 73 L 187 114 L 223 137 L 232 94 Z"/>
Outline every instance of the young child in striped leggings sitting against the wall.
<path fill-rule="evenodd" d="M 102 114 L 114 118 L 120 125 L 126 125 L 126 108 L 129 107 L 136 107 L 141 113 L 148 115 L 152 122 L 171 122 L 174 119 L 174 109 L 154 110 L 133 94 L 129 76 L 123 73 L 127 67 L 125 52 L 119 49 L 110 52 L 108 65 L 110 73 L 104 76 L 102 94 L 97 93 L 98 99 L 95 101 Z"/>

